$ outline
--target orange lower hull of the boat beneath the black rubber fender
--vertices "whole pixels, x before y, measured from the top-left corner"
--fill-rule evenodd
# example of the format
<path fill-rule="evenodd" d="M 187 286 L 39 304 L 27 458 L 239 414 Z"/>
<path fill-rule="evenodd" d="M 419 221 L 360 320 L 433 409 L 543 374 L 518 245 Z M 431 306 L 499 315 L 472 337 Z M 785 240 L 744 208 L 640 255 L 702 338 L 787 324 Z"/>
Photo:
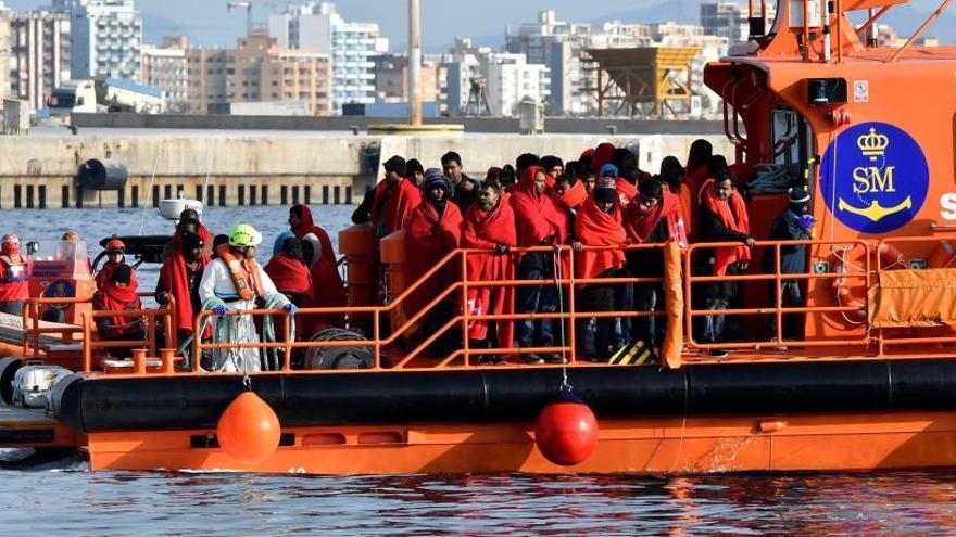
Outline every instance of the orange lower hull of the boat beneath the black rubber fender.
<path fill-rule="evenodd" d="M 266 461 L 241 464 L 215 430 L 103 432 L 88 437 L 92 470 L 236 470 L 305 474 L 873 471 L 956 465 L 956 413 L 880 412 L 601 420 L 595 452 L 555 465 L 533 423 L 284 429 Z"/>

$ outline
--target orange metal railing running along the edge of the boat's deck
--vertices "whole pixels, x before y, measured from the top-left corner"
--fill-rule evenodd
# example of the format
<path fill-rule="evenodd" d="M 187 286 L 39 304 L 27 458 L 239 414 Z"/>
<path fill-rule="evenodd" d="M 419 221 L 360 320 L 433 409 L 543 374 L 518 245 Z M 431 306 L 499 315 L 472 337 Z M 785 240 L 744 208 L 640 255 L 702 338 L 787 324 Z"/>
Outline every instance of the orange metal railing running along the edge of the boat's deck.
<path fill-rule="evenodd" d="M 368 306 L 368 307 L 341 307 L 341 308 L 301 308 L 299 309 L 299 317 L 306 316 L 329 316 L 329 315 L 347 315 L 347 316 L 370 316 L 370 333 L 365 334 L 366 337 L 362 340 L 355 341 L 293 341 L 292 337 L 292 329 L 291 316 L 288 311 L 285 310 L 266 310 L 266 309 L 254 309 L 254 310 L 246 310 L 246 311 L 229 311 L 228 316 L 253 316 L 253 317 L 263 317 L 263 316 L 276 316 L 277 320 L 280 320 L 281 330 L 277 335 L 277 341 L 275 342 L 257 342 L 257 343 L 228 343 L 228 342 L 203 342 L 201 338 L 198 338 L 193 343 L 193 362 L 191 367 L 191 373 L 204 373 L 201 367 L 201 357 L 204 350 L 216 350 L 216 349 L 227 349 L 227 348 L 256 348 L 256 349 L 279 349 L 284 353 L 284 358 L 281 360 L 281 365 L 279 369 L 284 372 L 293 372 L 292 370 L 292 355 L 295 350 L 311 349 L 311 348 L 322 348 L 322 347 L 367 347 L 372 349 L 373 356 L 373 371 L 379 370 L 422 370 L 422 369 L 442 369 L 448 367 L 456 367 L 456 368 L 473 368 L 480 366 L 479 362 L 476 362 L 477 358 L 487 356 L 487 355 L 527 355 L 529 353 L 559 353 L 568 358 L 568 362 L 573 366 L 581 366 L 582 359 L 579 356 L 579 349 L 577 348 L 577 330 L 578 322 L 583 319 L 594 319 L 594 318 L 641 318 L 641 317 L 666 317 L 669 314 L 675 314 L 678 318 L 682 319 L 682 329 L 684 330 L 684 347 L 685 349 L 695 349 L 695 350 L 709 350 L 709 349 L 751 349 L 751 350 L 759 350 L 764 348 L 771 348 L 781 345 L 781 342 L 784 340 L 784 320 L 785 316 L 789 315 L 800 315 L 801 317 L 801 325 L 812 317 L 823 318 L 823 317 L 839 317 L 839 316 L 850 316 L 850 315 L 859 315 L 860 310 L 866 310 L 869 308 L 869 304 L 864 304 L 863 308 L 858 305 L 845 305 L 841 304 L 839 299 L 836 299 L 835 294 L 830 291 L 831 286 L 835 286 L 835 282 L 842 281 L 840 285 L 852 285 L 856 289 L 866 290 L 870 289 L 875 279 L 878 277 L 881 270 L 886 270 L 888 267 L 882 267 L 879 260 L 879 252 L 881 252 L 882 245 L 889 242 L 900 242 L 904 241 L 903 239 L 893 240 L 893 241 L 884 241 L 883 243 L 876 243 L 872 241 L 762 241 L 757 243 L 757 248 L 771 248 L 772 258 L 775 260 L 776 270 L 768 273 L 738 273 L 738 274 L 727 274 L 727 276 L 712 276 L 712 274 L 700 274 L 694 270 L 694 259 L 696 256 L 702 255 L 701 250 L 704 248 L 714 248 L 721 246 L 739 246 L 739 243 L 701 243 L 693 244 L 685 248 L 681 255 L 682 263 L 682 274 L 683 281 L 681 282 L 683 285 L 683 298 L 684 306 L 682 309 L 670 311 L 670 309 L 665 306 L 663 311 L 583 311 L 579 307 L 580 304 L 576 297 L 576 293 L 573 292 L 575 290 L 581 289 L 583 285 L 593 285 L 593 284 L 608 284 L 608 285 L 627 285 L 627 284 L 663 284 L 664 281 L 661 278 L 634 278 L 634 277 L 622 277 L 622 278 L 602 278 L 602 279 L 589 279 L 589 280 L 578 280 L 575 278 L 573 271 L 567 271 L 566 269 L 562 269 L 562 266 L 568 267 L 574 266 L 576 256 L 580 255 L 576 253 L 573 248 L 563 246 L 559 248 L 550 248 L 550 247 L 533 247 L 533 248 L 514 248 L 511 254 L 503 255 L 512 255 L 516 256 L 518 254 L 530 253 L 530 252 L 548 252 L 553 253 L 554 259 L 565 260 L 566 264 L 556 263 L 557 270 L 555 271 L 555 276 L 553 278 L 544 279 L 544 280 L 521 280 L 521 279 L 513 279 L 513 280 L 501 280 L 501 281 L 469 281 L 467 278 L 467 261 L 468 257 L 473 255 L 495 255 L 491 251 L 485 250 L 456 250 L 454 252 L 449 253 L 441 261 L 436 264 L 431 269 L 422 277 L 418 281 L 412 283 L 408 289 L 406 289 L 403 293 L 401 293 L 394 301 L 390 304 L 383 306 Z M 906 241 L 914 241 L 913 239 L 906 239 Z M 916 241 L 939 241 L 939 239 L 916 239 Z M 805 273 L 782 273 L 781 267 L 781 250 L 789 246 L 806 246 L 810 251 L 812 259 L 829 259 L 833 263 L 828 267 L 817 267 L 815 270 L 809 270 Z M 606 248 L 588 248 L 588 250 L 611 250 L 611 247 Z M 637 251 L 637 250 L 663 250 L 663 245 L 629 245 L 621 246 L 621 250 L 625 251 Z M 755 252 L 759 253 L 760 250 L 755 250 Z M 851 255 L 853 253 L 854 255 Z M 861 255 L 860 255 L 861 254 Z M 872 259 L 876 259 L 873 261 Z M 835 268 L 834 265 L 841 266 L 840 269 Z M 752 260 L 754 264 L 762 263 L 757 256 Z M 516 263 L 517 265 L 517 263 Z M 457 274 L 457 281 L 451 282 L 449 285 L 443 287 L 440 293 L 436 296 L 430 297 L 428 304 L 417 311 L 407 311 L 408 318 L 405 322 L 399 324 L 395 330 L 391 333 L 386 334 L 383 322 L 388 322 L 386 320 L 386 316 L 395 315 L 400 311 L 400 308 L 405 306 L 410 302 L 410 296 L 413 293 L 416 293 L 426 285 L 426 282 L 431 279 L 438 278 L 442 271 L 445 270 L 454 270 Z M 816 293 L 806 292 L 805 296 L 807 297 L 820 297 L 826 291 L 826 294 L 833 296 L 833 303 L 831 305 L 820 304 L 819 299 L 812 298 L 809 306 L 784 306 L 783 302 L 783 287 L 784 283 L 789 281 L 800 282 L 801 287 L 821 287 L 817 289 Z M 695 293 L 699 293 L 695 286 L 701 284 L 713 284 L 717 282 L 731 282 L 737 283 L 743 286 L 747 286 L 746 289 L 757 289 L 758 286 L 770 289 L 771 301 L 768 305 L 760 307 L 731 307 L 724 310 L 708 310 L 702 309 L 699 306 L 695 306 Z M 564 302 L 562 307 L 558 308 L 554 312 L 541 312 L 541 314 L 487 314 L 482 312 L 480 315 L 474 315 L 469 311 L 467 304 L 467 295 L 469 290 L 474 290 L 476 287 L 520 287 L 528 285 L 555 285 L 559 287 L 561 295 L 564 297 Z M 866 302 L 866 296 L 863 296 L 863 301 Z M 429 315 L 432 315 L 439 307 L 442 306 L 443 303 L 452 302 L 453 303 L 453 311 L 448 316 L 448 318 L 441 319 L 441 325 L 435 330 L 433 333 L 427 334 L 423 337 L 420 342 L 412 346 L 407 349 L 407 351 L 395 351 L 398 345 L 402 342 L 402 340 L 408 336 L 413 332 L 413 328 L 420 324 L 425 321 Z M 677 306 L 680 308 L 680 306 Z M 131 312 L 130 315 L 153 315 L 154 317 L 161 315 L 171 315 L 164 312 L 165 310 L 151 311 L 143 310 Z M 115 315 L 114 312 L 98 312 L 93 316 L 111 316 Z M 772 331 L 768 330 L 760 331 L 763 334 L 752 338 L 751 341 L 734 341 L 734 342 L 720 342 L 720 343 L 703 343 L 695 341 L 695 322 L 697 319 L 704 318 L 706 316 L 714 315 L 726 315 L 732 317 L 742 317 L 747 319 L 753 319 L 755 317 L 762 317 L 767 320 L 776 319 L 776 327 Z M 214 316 L 211 311 L 201 311 L 194 321 L 194 333 L 202 333 L 202 329 L 205 323 L 211 320 L 211 317 Z M 495 348 L 473 348 L 471 344 L 467 337 L 469 324 L 471 321 L 527 321 L 527 320 L 537 320 L 537 319 L 552 319 L 557 321 L 555 325 L 555 344 L 553 346 L 548 347 L 515 347 L 511 344 L 511 342 L 503 342 L 502 345 Z M 892 335 L 883 334 L 881 331 L 870 330 L 866 321 L 866 317 L 861 317 L 861 321 L 858 323 L 858 327 L 853 325 L 844 325 L 842 329 L 832 330 L 828 335 L 815 335 L 809 338 L 803 338 L 798 341 L 788 341 L 785 343 L 787 346 L 792 346 L 796 348 L 818 348 L 821 351 L 826 353 L 825 347 L 833 347 L 833 348 L 842 348 L 839 356 L 883 356 L 883 345 L 892 344 L 892 345 L 915 345 L 918 343 L 956 343 L 956 336 L 945 336 L 945 337 L 896 337 Z M 769 323 L 768 323 L 769 324 Z M 809 324 L 807 322 L 807 324 Z M 420 360 L 418 358 L 423 357 L 426 350 L 432 346 L 436 342 L 439 341 L 440 337 L 450 333 L 451 331 L 460 329 L 462 333 L 461 346 L 454 350 L 449 351 L 444 356 L 437 357 L 435 360 Z M 152 337 L 150 337 L 152 340 Z M 86 341 L 90 341 L 89 337 L 86 337 Z M 133 346 L 140 344 L 140 342 L 122 342 L 123 346 Z M 141 342 L 141 344 L 147 345 L 149 342 Z M 876 345 L 875 345 L 876 344 Z M 105 342 L 97 342 L 93 345 L 87 345 L 88 350 L 87 354 L 91 353 L 93 348 L 109 348 L 112 344 L 106 344 Z M 117 344 L 115 346 L 121 346 Z M 172 345 L 167 345 L 172 347 Z M 873 348 L 876 347 L 876 350 Z M 850 348 L 853 348 L 850 350 Z M 150 350 L 155 353 L 155 344 L 152 342 L 150 346 Z M 394 358 L 393 360 L 387 361 L 386 355 L 390 355 L 390 358 Z M 399 355 L 399 356 L 395 356 Z M 788 355 L 778 355 L 780 359 L 787 359 Z M 892 355 L 897 356 L 897 355 Z M 87 366 L 89 365 L 89 360 L 87 360 Z M 606 363 L 591 363 L 589 366 L 601 367 L 606 366 Z M 363 371 L 363 370 L 356 370 Z M 186 374 L 189 374 L 187 372 Z"/>

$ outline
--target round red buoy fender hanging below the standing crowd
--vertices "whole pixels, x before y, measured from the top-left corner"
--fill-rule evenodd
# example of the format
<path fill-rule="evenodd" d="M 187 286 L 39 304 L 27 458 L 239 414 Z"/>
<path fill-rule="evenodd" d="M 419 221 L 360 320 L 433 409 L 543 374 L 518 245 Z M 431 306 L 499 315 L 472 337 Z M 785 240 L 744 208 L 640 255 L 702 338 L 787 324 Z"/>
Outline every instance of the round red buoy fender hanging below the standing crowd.
<path fill-rule="evenodd" d="M 549 461 L 574 466 L 588 460 L 598 447 L 598 419 L 579 400 L 553 402 L 538 415 L 534 444 Z"/>

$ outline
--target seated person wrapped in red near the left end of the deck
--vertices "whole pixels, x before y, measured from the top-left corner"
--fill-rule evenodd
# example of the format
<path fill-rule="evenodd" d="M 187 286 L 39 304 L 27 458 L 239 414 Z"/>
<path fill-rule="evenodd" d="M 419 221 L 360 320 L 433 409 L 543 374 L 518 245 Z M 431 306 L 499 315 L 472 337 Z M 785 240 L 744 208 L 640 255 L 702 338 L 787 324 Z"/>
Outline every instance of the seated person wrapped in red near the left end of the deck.
<path fill-rule="evenodd" d="M 116 265 L 103 286 L 93 294 L 93 311 L 134 311 L 142 309 L 139 299 L 136 271 L 126 264 Z M 142 317 L 116 315 L 97 317 L 97 332 L 101 341 L 142 341 L 146 338 Z M 133 355 L 130 348 L 111 348 L 110 355 L 127 358 Z"/>

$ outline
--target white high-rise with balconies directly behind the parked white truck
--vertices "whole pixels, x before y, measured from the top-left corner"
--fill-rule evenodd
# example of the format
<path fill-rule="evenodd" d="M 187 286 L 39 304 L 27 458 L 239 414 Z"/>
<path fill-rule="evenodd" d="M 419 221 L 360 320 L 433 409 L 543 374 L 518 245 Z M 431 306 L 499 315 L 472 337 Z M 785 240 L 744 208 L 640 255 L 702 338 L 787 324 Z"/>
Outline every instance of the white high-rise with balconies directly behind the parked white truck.
<path fill-rule="evenodd" d="M 54 0 L 71 14 L 73 78 L 142 75 L 142 18 L 133 0 Z"/>

